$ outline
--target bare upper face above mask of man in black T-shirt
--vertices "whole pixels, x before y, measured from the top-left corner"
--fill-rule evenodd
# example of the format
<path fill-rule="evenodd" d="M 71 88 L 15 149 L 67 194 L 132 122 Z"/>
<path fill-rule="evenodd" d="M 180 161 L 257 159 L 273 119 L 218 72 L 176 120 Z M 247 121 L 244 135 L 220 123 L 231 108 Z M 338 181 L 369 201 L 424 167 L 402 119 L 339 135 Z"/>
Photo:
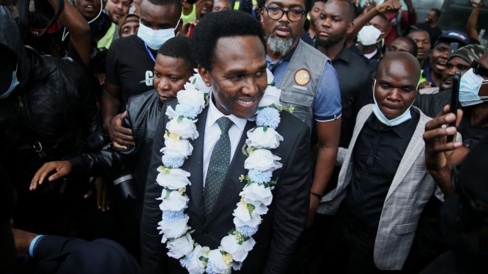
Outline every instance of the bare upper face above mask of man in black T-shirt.
<path fill-rule="evenodd" d="M 180 20 L 181 13 L 176 10 L 176 6 L 154 5 L 148 0 L 141 1 L 141 23 L 153 29 L 175 28 Z M 178 24 L 178 28 L 181 24 Z"/>

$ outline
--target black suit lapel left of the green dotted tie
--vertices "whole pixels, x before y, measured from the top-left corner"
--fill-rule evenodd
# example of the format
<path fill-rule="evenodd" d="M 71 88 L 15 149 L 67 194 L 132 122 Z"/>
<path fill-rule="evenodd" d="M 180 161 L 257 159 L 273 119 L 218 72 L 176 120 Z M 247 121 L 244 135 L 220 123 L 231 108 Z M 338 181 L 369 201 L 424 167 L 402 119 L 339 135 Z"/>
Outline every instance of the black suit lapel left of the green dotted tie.
<path fill-rule="evenodd" d="M 185 161 L 183 170 L 190 172 L 190 191 L 187 195 L 190 198 L 190 203 L 193 204 L 195 212 L 199 219 L 204 219 L 203 214 L 203 142 L 205 139 L 205 125 L 207 122 L 207 114 L 209 108 L 205 108 L 198 117 L 196 122 L 196 130 L 198 131 L 198 138 L 191 140 L 193 152 L 191 156 Z"/>

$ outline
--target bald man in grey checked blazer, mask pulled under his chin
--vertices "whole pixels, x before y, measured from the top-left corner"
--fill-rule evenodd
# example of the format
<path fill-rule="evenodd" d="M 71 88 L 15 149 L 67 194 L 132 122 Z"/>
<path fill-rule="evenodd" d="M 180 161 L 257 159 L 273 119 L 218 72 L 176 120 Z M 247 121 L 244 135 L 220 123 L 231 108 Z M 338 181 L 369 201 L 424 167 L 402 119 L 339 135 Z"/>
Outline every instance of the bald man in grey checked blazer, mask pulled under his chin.
<path fill-rule="evenodd" d="M 417 222 L 436 190 L 424 163 L 422 133 L 430 119 L 412 108 L 420 64 L 411 54 L 385 56 L 374 102 L 358 114 L 349 148 L 339 149 L 337 188 L 318 213 L 336 215 L 332 262 L 347 258 L 347 273 L 405 267 Z"/>

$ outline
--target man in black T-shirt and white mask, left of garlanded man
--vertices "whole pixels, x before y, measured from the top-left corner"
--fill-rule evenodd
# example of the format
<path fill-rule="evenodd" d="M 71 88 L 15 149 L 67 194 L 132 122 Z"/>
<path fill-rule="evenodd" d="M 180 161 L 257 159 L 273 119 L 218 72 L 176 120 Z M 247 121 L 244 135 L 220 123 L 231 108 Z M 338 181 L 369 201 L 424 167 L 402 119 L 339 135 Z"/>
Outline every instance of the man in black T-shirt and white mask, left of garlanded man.
<path fill-rule="evenodd" d="M 134 145 L 132 131 L 122 127 L 127 99 L 152 89 L 157 49 L 181 28 L 179 0 L 142 0 L 140 10 L 137 36 L 117 39 L 110 47 L 100 98 L 104 125 L 119 149 Z"/>

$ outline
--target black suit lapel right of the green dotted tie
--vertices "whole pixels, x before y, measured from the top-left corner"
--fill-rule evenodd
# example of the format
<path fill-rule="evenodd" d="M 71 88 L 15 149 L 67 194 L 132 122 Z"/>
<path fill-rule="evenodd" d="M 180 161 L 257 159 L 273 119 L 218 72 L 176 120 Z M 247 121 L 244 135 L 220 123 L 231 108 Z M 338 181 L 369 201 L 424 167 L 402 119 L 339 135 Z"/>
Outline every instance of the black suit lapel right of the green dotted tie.
<path fill-rule="evenodd" d="M 229 165 L 229 169 L 225 175 L 222 189 L 220 190 L 217 201 L 213 206 L 212 212 L 205 221 L 205 226 L 219 214 L 220 210 L 222 210 L 222 208 L 229 202 L 229 200 L 231 200 L 231 198 L 238 195 L 245 185 L 245 183 L 240 182 L 238 178 L 241 174 L 245 175 L 246 173 L 246 169 L 244 168 L 246 156 L 241 152 L 241 148 L 244 146 L 248 130 L 252 129 L 254 126 L 255 122 L 248 121 L 244 127 L 244 131 L 242 132 L 242 136 L 235 149 L 231 164 Z M 233 203 L 233 206 L 235 206 L 235 203 Z"/>

